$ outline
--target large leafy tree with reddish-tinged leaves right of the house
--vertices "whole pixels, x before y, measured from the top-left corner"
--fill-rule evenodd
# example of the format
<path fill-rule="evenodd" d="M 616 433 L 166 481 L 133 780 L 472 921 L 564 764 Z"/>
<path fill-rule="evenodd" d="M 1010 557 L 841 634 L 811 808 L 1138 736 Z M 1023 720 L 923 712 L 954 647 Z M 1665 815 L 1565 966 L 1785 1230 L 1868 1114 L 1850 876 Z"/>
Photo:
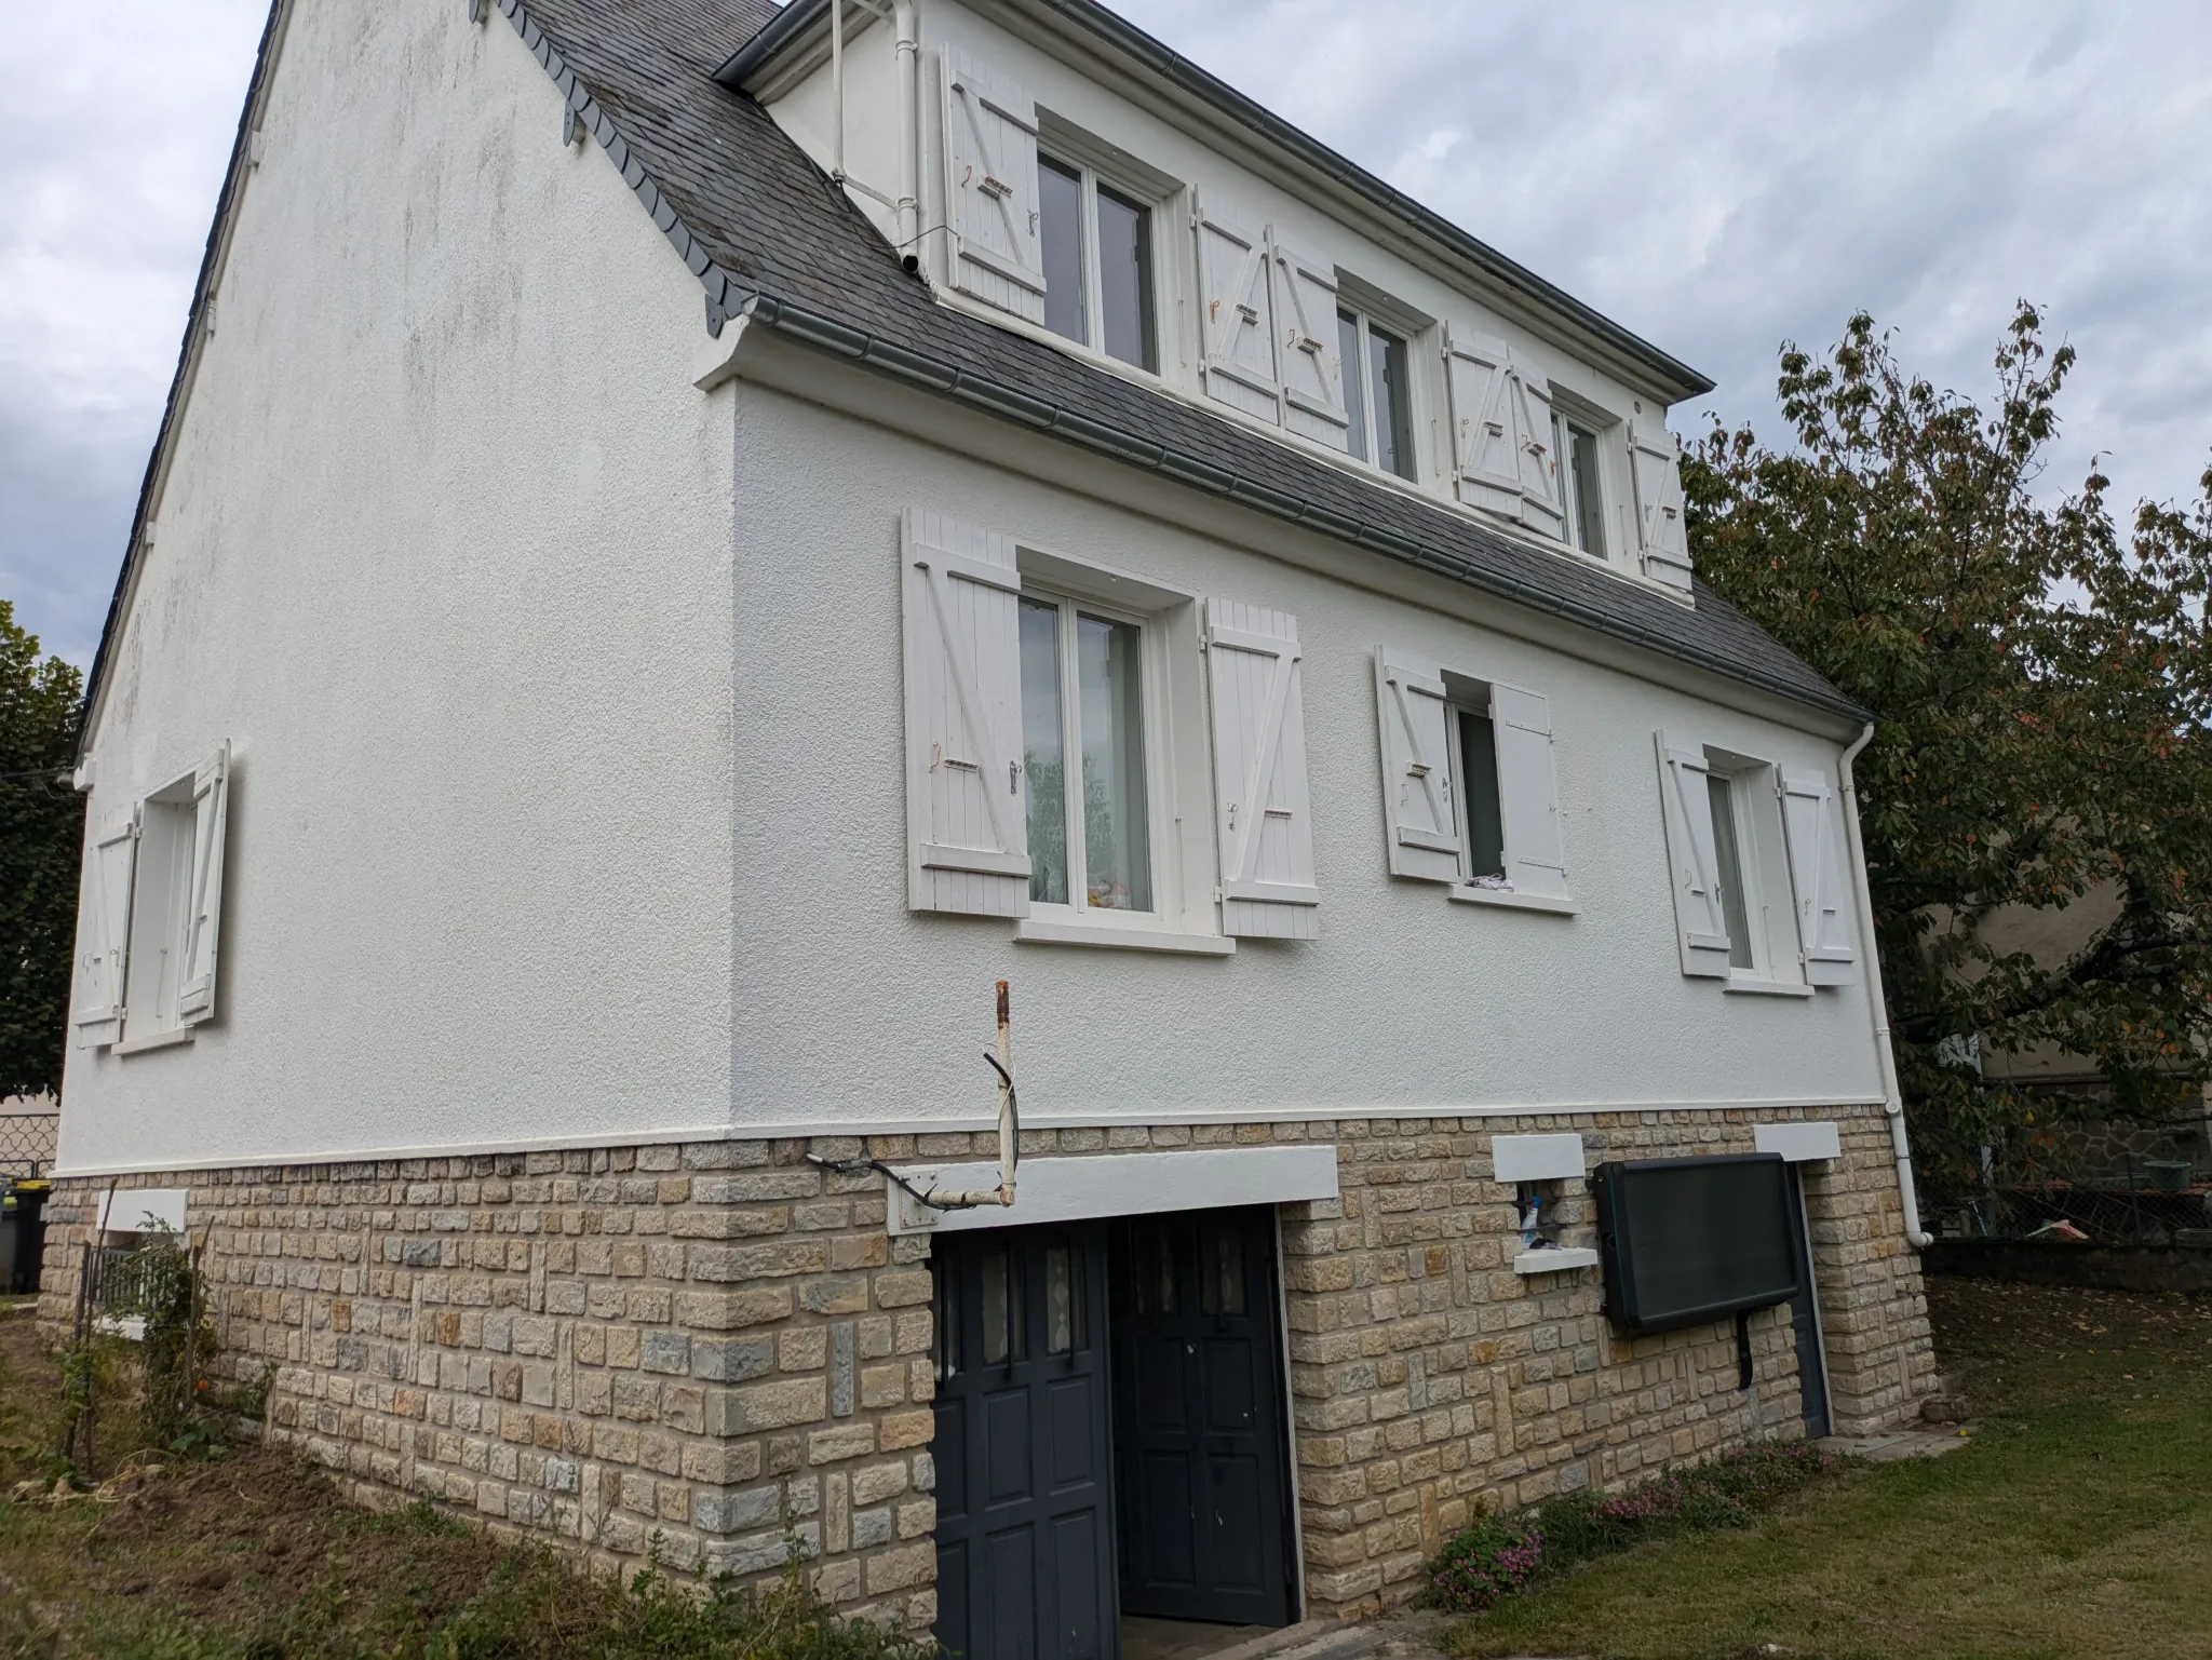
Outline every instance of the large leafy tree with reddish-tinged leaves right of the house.
<path fill-rule="evenodd" d="M 1938 1182 L 2068 1113 L 2166 1118 L 2212 1069 L 2212 469 L 2126 531 L 2097 471 L 2039 498 L 2073 363 L 2022 303 L 1982 405 L 1860 314 L 1827 356 L 1783 347 L 1794 445 L 1714 423 L 1683 460 L 1699 573 L 1876 713 L 1867 879 Z M 2011 945 L 2037 916 L 2070 950 Z M 1978 1065 L 2042 1045 L 2110 1100 Z"/>

